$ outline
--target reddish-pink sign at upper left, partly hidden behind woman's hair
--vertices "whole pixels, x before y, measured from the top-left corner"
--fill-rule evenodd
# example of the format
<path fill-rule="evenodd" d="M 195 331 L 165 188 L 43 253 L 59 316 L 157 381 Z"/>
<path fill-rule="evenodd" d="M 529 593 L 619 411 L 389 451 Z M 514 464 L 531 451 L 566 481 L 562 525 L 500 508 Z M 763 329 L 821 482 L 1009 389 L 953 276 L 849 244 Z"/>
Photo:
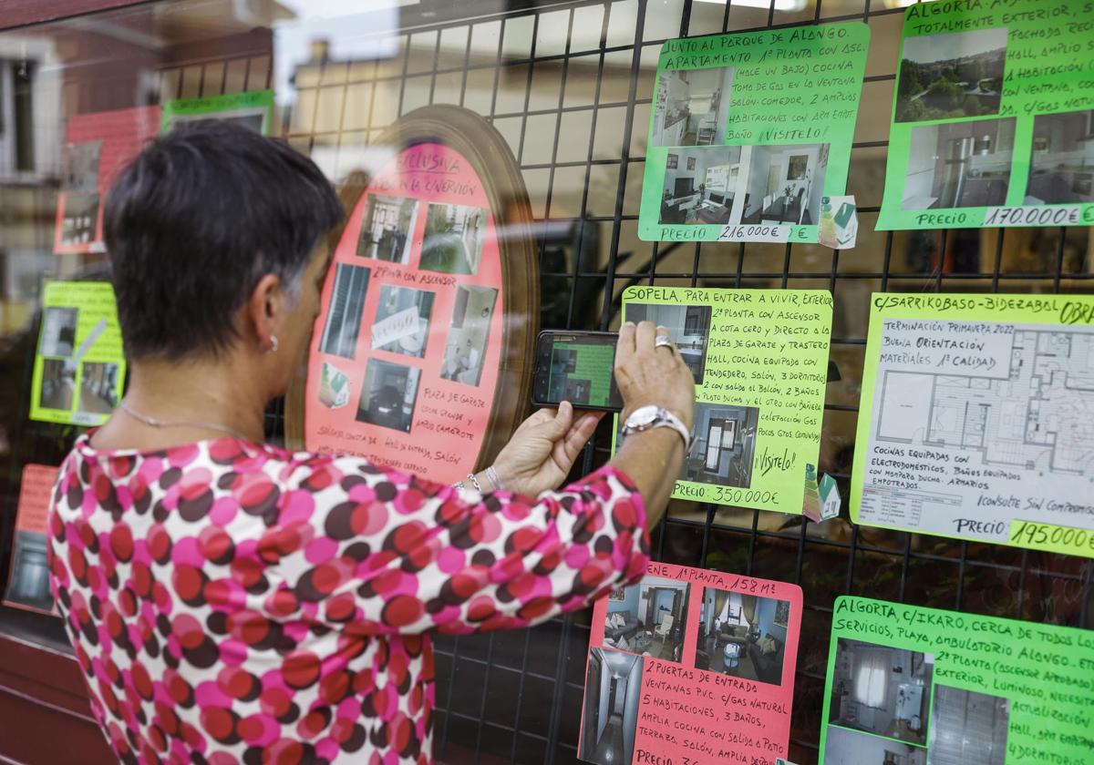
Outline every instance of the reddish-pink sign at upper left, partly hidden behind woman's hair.
<path fill-rule="evenodd" d="M 75 115 L 61 157 L 54 251 L 102 252 L 103 205 L 117 174 L 160 131 L 160 107 Z"/>

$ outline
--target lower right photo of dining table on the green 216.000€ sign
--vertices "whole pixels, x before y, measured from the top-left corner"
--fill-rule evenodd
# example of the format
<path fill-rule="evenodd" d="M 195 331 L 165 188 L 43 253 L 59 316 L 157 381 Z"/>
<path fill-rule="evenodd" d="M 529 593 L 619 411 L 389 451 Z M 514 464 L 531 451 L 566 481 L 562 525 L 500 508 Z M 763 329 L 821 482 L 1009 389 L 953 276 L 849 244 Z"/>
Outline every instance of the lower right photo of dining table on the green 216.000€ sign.
<path fill-rule="evenodd" d="M 748 166 L 741 223 L 816 225 L 828 170 L 828 144 L 745 146 Z"/>

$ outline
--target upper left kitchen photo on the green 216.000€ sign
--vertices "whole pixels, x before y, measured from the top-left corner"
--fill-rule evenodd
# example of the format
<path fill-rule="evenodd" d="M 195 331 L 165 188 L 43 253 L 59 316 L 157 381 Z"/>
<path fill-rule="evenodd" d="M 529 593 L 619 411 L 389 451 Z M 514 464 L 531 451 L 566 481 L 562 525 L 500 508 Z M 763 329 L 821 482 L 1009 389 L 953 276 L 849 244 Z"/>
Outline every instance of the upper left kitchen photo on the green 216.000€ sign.
<path fill-rule="evenodd" d="M 662 72 L 653 107 L 651 145 L 721 145 L 732 86 L 732 67 Z"/>

